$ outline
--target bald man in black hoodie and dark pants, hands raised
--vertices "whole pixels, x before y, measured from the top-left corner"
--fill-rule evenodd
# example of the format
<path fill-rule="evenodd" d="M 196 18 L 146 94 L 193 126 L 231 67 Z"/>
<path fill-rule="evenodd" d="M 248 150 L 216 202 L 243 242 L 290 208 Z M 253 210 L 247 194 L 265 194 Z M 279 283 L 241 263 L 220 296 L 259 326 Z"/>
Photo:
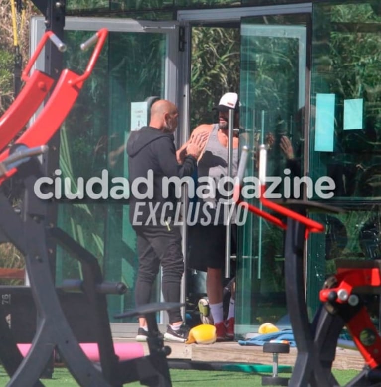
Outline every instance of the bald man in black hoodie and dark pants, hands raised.
<path fill-rule="evenodd" d="M 150 302 L 160 264 L 165 301 L 180 302 L 184 257 L 180 227 L 173 222 L 176 197 L 173 190 L 164 197 L 163 178 L 191 176 L 197 168 L 197 158 L 205 145 L 206 135 L 200 134 L 188 141 L 183 163 L 178 164 L 173 142 L 177 118 L 174 104 L 158 100 L 151 107 L 149 126 L 132 132 L 127 141 L 130 222 L 136 232 L 139 256 L 136 306 Z M 134 181 L 145 181 L 146 184 L 134 184 Z M 169 325 L 164 337 L 184 342 L 189 328 L 182 321 L 180 308 L 168 311 L 168 315 Z M 147 323 L 144 318 L 139 318 L 136 339 L 147 340 L 147 335 Z"/>

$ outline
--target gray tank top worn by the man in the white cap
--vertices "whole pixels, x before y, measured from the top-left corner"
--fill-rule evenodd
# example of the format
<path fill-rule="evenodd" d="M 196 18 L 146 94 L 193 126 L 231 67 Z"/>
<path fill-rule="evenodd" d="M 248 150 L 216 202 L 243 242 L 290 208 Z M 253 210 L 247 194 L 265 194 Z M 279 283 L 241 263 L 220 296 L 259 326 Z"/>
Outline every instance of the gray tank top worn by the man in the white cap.
<path fill-rule="evenodd" d="M 209 136 L 208 143 L 205 147 L 205 152 L 200 159 L 197 167 L 198 175 L 198 188 L 205 187 L 207 183 L 206 177 L 209 177 L 210 183 L 212 179 L 214 182 L 214 193 L 209 192 L 208 189 L 203 190 L 203 194 L 206 197 L 198 197 L 198 207 L 193 208 L 193 213 L 197 217 L 198 222 L 206 224 L 226 224 L 227 214 L 229 214 L 229 206 L 224 205 L 224 199 L 229 196 L 226 195 L 224 190 L 230 190 L 231 187 L 226 183 L 225 187 L 222 187 L 222 178 L 228 175 L 228 148 L 224 147 L 217 137 L 217 131 L 219 129 L 218 124 L 213 124 L 212 132 Z M 232 177 L 236 176 L 238 168 L 238 149 L 233 149 L 233 161 L 232 161 Z M 202 182 L 200 183 L 200 178 Z M 204 180 L 205 179 L 205 180 Z M 208 183 L 208 187 L 211 187 Z M 215 197 L 211 197 L 215 195 Z M 206 204 L 207 203 L 207 204 Z M 225 207 L 225 210 L 224 210 Z M 198 209 L 198 211 L 197 211 Z M 230 222 L 235 223 L 235 211 L 230 211 Z M 210 214 L 210 221 L 208 222 Z M 225 215 L 224 215 L 225 214 Z"/>

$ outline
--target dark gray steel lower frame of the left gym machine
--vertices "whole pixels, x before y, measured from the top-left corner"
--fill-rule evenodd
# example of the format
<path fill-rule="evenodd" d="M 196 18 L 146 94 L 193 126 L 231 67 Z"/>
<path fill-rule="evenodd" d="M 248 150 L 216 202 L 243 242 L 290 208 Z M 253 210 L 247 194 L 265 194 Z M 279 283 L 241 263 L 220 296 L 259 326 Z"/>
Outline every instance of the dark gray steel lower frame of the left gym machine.
<path fill-rule="evenodd" d="M 27 152 L 27 149 L 25 150 Z M 21 151 L 22 152 L 22 151 Z M 18 155 L 20 157 L 20 155 Z M 29 158 L 29 156 L 28 156 Z M 20 161 L 20 160 L 19 160 Z M 81 247 L 63 230 L 44 225 L 44 205 L 33 195 L 39 163 L 29 158 L 26 164 L 18 165 L 23 176 L 25 199 L 23 215 L 15 214 L 4 195 L 0 195 L 2 216 L 0 229 L 24 255 L 31 292 L 37 309 L 36 334 L 25 358 L 17 347 L 12 329 L 5 320 L 4 308 L 0 308 L 0 359 L 11 375 L 8 386 L 43 386 L 39 377 L 48 360 L 57 351 L 80 386 L 116 386 L 140 381 L 149 386 L 171 386 L 166 356 L 169 347 L 164 347 L 155 312 L 160 309 L 179 307 L 179 304 L 153 304 L 138 308 L 121 317 L 144 315 L 149 326 L 148 345 L 150 354 L 134 359 L 120 360 L 115 353 L 110 323 L 107 314 L 107 293 L 123 293 L 121 284 L 103 282 L 96 257 Z M 34 172 L 35 171 L 35 172 Z M 58 244 L 78 259 L 82 266 L 83 279 L 70 281 L 63 289 L 82 290 L 87 306 L 86 326 L 95 332 L 100 367 L 83 352 L 70 327 L 59 302 L 49 266 L 45 238 L 49 233 Z M 1 288 L 1 287 L 0 287 Z M 65 291 L 64 290 L 64 291 Z M 91 322 L 91 323 L 89 323 Z M 78 323 L 78 321 L 77 321 Z M 82 322 L 83 323 L 83 322 Z"/>

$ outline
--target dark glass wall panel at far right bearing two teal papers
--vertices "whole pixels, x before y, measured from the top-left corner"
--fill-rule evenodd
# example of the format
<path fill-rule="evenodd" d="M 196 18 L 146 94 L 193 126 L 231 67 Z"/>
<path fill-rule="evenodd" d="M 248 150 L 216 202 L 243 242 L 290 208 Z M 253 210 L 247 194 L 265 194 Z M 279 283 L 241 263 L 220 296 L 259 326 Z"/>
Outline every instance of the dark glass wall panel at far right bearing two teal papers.
<path fill-rule="evenodd" d="M 325 235 L 310 238 L 311 314 L 336 259 L 379 259 L 380 44 L 379 2 L 314 5 L 309 170 L 333 180 L 329 200 L 348 213 L 323 219 Z"/>

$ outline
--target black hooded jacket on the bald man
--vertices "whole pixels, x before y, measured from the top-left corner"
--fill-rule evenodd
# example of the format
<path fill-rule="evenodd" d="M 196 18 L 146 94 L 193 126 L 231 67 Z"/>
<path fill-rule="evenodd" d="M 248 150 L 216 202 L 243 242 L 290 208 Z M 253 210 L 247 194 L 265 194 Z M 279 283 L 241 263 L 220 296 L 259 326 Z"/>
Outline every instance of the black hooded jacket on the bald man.
<path fill-rule="evenodd" d="M 183 164 L 178 164 L 173 134 L 163 133 L 152 127 L 143 127 L 131 132 L 126 149 L 131 224 L 133 226 L 162 224 L 168 217 L 173 220 L 177 201 L 174 187 L 170 187 L 168 196 L 163 197 L 162 179 L 191 176 L 197 167 L 197 160 L 193 156 L 186 156 Z M 150 174 L 153 176 L 152 179 Z M 140 180 L 136 180 L 139 178 Z M 141 183 L 137 184 L 139 181 Z M 143 197 L 139 197 L 139 194 Z M 150 195 L 152 197 L 149 197 Z M 164 206 L 164 203 L 168 202 L 172 205 Z"/>

